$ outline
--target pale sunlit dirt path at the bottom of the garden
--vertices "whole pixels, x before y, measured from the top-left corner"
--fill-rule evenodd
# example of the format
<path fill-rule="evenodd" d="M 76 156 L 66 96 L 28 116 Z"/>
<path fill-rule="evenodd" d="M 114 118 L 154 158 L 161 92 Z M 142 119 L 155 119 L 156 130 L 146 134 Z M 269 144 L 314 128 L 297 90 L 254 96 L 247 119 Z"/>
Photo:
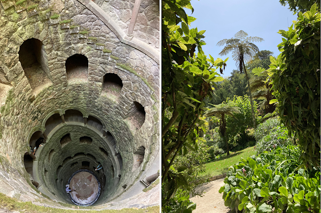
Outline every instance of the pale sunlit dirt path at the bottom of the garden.
<path fill-rule="evenodd" d="M 229 207 L 224 205 L 222 195 L 219 193 L 219 189 L 225 183 L 224 178 L 214 180 L 200 186 L 197 191 L 204 190 L 203 197 L 195 196 L 190 198 L 192 202 L 196 203 L 196 209 L 193 213 L 232 213 Z"/>

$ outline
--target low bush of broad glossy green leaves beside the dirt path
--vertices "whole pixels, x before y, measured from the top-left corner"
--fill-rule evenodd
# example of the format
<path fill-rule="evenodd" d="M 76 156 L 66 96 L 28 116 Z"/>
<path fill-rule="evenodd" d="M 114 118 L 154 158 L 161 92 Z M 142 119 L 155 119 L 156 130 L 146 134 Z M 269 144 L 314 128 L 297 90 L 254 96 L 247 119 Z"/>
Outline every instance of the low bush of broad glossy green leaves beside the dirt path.
<path fill-rule="evenodd" d="M 292 149 L 294 154 L 284 155 Z M 288 146 L 242 158 L 229 168 L 219 190 L 224 204 L 251 213 L 320 212 L 320 171 L 298 169 L 300 154 L 297 147 Z"/>

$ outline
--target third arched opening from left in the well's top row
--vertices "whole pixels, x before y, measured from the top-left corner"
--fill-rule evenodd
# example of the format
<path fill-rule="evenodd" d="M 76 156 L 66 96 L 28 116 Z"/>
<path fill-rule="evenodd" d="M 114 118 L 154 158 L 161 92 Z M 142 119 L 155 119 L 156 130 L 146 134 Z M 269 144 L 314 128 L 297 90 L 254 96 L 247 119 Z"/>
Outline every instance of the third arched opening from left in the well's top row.
<path fill-rule="evenodd" d="M 122 88 L 122 80 L 121 78 L 114 73 L 107 73 L 103 77 L 102 82 L 102 94 L 110 94 L 115 96 L 115 99 L 118 99 Z"/>

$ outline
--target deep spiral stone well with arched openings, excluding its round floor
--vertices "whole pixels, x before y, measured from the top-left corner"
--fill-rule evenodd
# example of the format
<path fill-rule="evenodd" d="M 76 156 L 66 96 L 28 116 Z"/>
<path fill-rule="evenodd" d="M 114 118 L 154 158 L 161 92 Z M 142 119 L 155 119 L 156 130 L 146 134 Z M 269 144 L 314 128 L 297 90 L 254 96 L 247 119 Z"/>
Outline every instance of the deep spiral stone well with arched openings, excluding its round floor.
<path fill-rule="evenodd" d="M 136 4 L 1 1 L 0 192 L 63 208 L 99 184 L 93 209 L 159 205 L 140 182 L 159 170 L 159 5 Z"/>

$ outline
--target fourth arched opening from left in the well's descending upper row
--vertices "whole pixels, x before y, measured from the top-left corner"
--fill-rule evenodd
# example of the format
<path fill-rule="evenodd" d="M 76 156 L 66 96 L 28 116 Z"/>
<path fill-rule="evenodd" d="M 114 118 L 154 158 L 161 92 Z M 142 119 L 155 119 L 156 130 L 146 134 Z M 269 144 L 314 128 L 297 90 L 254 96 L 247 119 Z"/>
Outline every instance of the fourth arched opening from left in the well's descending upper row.
<path fill-rule="evenodd" d="M 131 129 L 132 130 L 139 130 L 140 127 L 144 124 L 145 122 L 145 110 L 143 106 L 134 101 L 131 109 L 129 110 L 126 119 L 130 122 L 131 124 Z"/>

